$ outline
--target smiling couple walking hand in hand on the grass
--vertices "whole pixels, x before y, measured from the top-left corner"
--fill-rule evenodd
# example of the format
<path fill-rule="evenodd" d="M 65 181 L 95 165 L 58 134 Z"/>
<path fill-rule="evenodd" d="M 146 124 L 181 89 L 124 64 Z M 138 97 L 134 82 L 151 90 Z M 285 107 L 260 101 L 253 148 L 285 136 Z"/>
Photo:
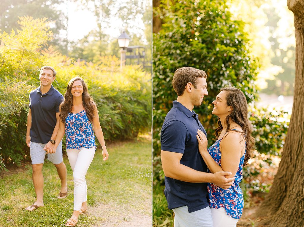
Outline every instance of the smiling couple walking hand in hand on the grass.
<path fill-rule="evenodd" d="M 95 135 L 102 146 L 104 161 L 109 154 L 96 103 L 84 80 L 80 77 L 71 79 L 63 97 L 52 85 L 55 78 L 55 69 L 43 66 L 39 73 L 40 86 L 29 94 L 26 144 L 30 148 L 37 198 L 25 209 L 33 211 L 44 206 L 42 166 L 46 153 L 47 159 L 56 166 L 61 181 L 57 198 L 67 197 L 67 168 L 62 158 L 62 138 L 66 134 L 67 157 L 74 178 L 74 209 L 65 226 L 75 226 L 79 214 L 87 210 L 85 174 L 94 158 Z"/>

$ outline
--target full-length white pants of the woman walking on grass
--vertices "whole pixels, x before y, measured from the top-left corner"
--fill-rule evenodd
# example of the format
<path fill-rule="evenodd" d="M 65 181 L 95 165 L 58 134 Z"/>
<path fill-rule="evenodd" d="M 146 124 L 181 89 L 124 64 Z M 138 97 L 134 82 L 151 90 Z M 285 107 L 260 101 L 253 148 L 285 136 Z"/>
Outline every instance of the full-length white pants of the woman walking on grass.
<path fill-rule="evenodd" d="M 87 149 L 67 149 L 67 157 L 73 170 L 74 178 L 74 210 L 80 210 L 83 202 L 87 201 L 87 183 L 85 174 L 94 158 L 95 147 Z"/>

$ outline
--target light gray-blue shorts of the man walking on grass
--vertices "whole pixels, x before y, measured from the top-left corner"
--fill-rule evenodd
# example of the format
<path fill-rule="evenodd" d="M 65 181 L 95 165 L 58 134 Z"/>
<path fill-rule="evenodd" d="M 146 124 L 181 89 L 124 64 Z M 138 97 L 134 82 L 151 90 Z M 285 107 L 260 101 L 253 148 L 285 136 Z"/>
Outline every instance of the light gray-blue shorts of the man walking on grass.
<path fill-rule="evenodd" d="M 32 164 L 42 164 L 44 163 L 44 158 L 46 151 L 43 150 L 44 146 L 46 144 L 39 144 L 39 143 L 34 143 L 30 142 L 30 155 L 32 159 Z M 56 152 L 53 154 L 47 154 L 47 160 L 52 162 L 53 164 L 57 165 L 60 164 L 63 159 L 62 159 L 62 141 L 60 141 Z"/>

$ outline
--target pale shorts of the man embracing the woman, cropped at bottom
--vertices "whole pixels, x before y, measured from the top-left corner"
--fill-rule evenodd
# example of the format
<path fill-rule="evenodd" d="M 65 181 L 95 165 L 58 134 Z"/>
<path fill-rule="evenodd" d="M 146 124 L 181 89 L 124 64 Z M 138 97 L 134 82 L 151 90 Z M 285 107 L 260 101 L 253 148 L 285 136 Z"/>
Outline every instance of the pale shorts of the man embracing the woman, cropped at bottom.
<path fill-rule="evenodd" d="M 210 207 L 188 212 L 187 206 L 174 208 L 174 227 L 213 227 Z"/>

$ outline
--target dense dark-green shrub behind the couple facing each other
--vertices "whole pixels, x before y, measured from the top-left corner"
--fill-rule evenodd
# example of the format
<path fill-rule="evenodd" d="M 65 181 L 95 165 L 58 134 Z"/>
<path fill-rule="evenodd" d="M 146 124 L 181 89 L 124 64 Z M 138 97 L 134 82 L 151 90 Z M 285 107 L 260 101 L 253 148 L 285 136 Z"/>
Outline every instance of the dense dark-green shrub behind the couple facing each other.
<path fill-rule="evenodd" d="M 168 4 L 167 4 L 168 3 Z M 223 86 L 243 91 L 247 102 L 257 100 L 258 65 L 247 47 L 243 23 L 231 19 L 226 1 L 161 1 L 154 9 L 164 24 L 154 34 L 153 45 L 153 156 L 160 154 L 160 133 L 164 117 L 172 108 L 177 95 L 172 78 L 177 68 L 192 66 L 205 70 L 209 76 L 208 96 L 195 107 L 209 138 L 214 137 L 218 117 L 211 114 L 212 101 Z M 284 113 L 282 113 L 284 114 Z M 278 154 L 284 144 L 287 123 L 277 121 L 282 114 L 252 109 L 257 150 Z M 213 143 L 208 140 L 209 146 Z M 155 171 L 158 159 L 154 159 Z M 159 167 L 161 167 L 159 165 Z M 154 174 L 163 181 L 162 173 Z"/>

